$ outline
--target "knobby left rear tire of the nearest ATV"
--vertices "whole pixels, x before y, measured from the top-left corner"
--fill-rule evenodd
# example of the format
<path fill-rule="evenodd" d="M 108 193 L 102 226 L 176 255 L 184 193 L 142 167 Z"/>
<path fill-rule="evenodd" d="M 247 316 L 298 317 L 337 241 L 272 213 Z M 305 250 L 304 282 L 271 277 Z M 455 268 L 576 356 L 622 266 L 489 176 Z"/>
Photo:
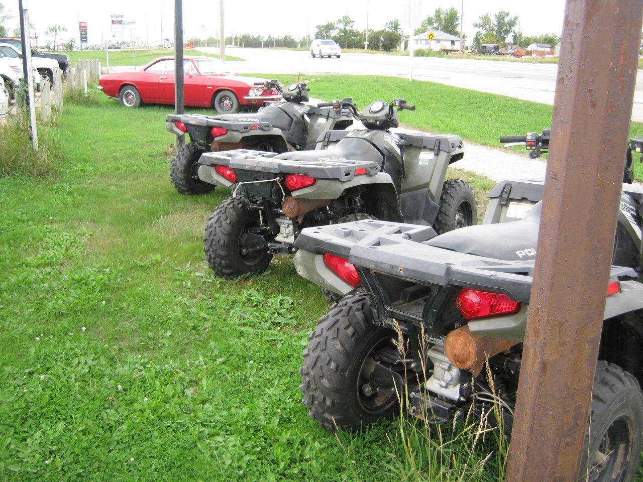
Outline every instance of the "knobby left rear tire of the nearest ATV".
<path fill-rule="evenodd" d="M 397 339 L 394 330 L 373 325 L 367 294 L 349 294 L 333 305 L 303 351 L 299 389 L 309 415 L 328 431 L 357 431 L 394 416 L 397 393 L 364 398 L 359 386 L 361 368 L 372 348 L 393 339 Z M 364 400 L 370 399 L 374 405 L 367 409 Z"/>

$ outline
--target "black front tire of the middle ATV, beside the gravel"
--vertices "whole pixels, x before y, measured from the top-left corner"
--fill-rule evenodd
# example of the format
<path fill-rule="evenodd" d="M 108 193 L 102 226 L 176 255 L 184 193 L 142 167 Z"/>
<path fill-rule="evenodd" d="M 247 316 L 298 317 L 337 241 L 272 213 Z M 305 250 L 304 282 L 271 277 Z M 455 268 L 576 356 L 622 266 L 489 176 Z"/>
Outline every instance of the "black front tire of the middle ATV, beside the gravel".
<path fill-rule="evenodd" d="M 444 181 L 440 195 L 440 210 L 433 223 L 439 235 L 476 224 L 478 208 L 476 196 L 468 183 L 460 179 Z"/>

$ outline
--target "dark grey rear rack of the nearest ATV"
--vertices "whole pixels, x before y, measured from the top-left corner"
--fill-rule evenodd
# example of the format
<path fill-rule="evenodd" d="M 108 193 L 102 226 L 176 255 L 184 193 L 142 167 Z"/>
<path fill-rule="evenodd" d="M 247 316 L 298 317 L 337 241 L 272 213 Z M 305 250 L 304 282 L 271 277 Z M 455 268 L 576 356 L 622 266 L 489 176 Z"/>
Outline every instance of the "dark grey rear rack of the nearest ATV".
<path fill-rule="evenodd" d="M 336 254 L 363 269 L 417 283 L 502 292 L 529 303 L 534 260 L 497 260 L 423 244 L 435 236 L 426 226 L 363 220 L 303 229 L 294 247 Z M 610 282 L 636 277 L 631 268 L 611 268 Z"/>

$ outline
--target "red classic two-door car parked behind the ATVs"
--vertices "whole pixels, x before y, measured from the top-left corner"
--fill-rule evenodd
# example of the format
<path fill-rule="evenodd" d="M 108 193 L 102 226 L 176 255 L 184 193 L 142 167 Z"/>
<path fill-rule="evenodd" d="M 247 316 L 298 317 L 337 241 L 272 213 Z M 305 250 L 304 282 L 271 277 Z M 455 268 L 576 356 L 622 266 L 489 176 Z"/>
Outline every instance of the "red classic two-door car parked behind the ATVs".
<path fill-rule="evenodd" d="M 276 90 L 266 91 L 255 82 L 262 78 L 237 76 L 224 71 L 223 63 L 212 57 L 185 57 L 185 105 L 214 107 L 231 114 L 240 106 L 260 107 L 266 100 L 281 96 Z M 101 75 L 98 89 L 118 98 L 125 107 L 145 103 L 174 104 L 174 57 L 159 57 L 136 72 Z"/>

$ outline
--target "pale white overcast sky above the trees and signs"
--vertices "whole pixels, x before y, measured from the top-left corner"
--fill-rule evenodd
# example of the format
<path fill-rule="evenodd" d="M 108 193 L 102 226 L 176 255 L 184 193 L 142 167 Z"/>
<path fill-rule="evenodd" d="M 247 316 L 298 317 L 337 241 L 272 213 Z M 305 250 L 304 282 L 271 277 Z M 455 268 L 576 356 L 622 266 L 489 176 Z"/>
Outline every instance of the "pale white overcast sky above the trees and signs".
<path fill-rule="evenodd" d="M 17 25 L 17 0 L 0 0 L 14 15 L 13 24 Z M 303 37 L 310 30 L 314 35 L 315 26 L 334 21 L 342 15 L 349 15 L 359 30 L 366 28 L 367 1 L 369 4 L 368 27 L 374 30 L 383 28 L 385 22 L 399 19 L 406 27 L 409 24 L 410 0 L 321 0 L 311 2 L 265 0 L 224 0 L 225 30 L 231 33 L 254 33 L 267 36 L 282 36 L 290 33 L 294 37 Z M 413 0 L 412 0 L 413 1 Z M 415 0 L 417 1 L 416 23 L 435 11 L 435 8 L 455 7 L 460 10 L 461 0 Z M 27 3 L 27 0 L 24 0 Z M 505 0 L 464 0 L 464 31 L 469 39 L 473 37 L 475 22 L 486 12 L 508 10 L 520 17 L 521 30 L 525 35 L 538 33 L 556 33 L 560 35 L 563 28 L 563 0 L 540 0 L 535 7 L 532 1 Z M 30 20 L 37 35 L 42 38 L 49 26 L 60 24 L 68 31 L 63 40 L 75 35 L 78 43 L 78 21 L 87 22 L 89 44 L 100 44 L 111 36 L 110 15 L 119 13 L 124 21 L 136 21 L 134 35 L 141 41 L 160 42 L 161 17 L 163 37 L 173 36 L 174 1 L 173 0 L 28 0 Z M 185 38 L 206 38 L 217 35 L 219 30 L 219 1 L 217 0 L 184 0 L 183 26 Z M 125 40 L 131 35 L 125 27 Z M 39 43 L 41 40 L 39 40 Z"/>

